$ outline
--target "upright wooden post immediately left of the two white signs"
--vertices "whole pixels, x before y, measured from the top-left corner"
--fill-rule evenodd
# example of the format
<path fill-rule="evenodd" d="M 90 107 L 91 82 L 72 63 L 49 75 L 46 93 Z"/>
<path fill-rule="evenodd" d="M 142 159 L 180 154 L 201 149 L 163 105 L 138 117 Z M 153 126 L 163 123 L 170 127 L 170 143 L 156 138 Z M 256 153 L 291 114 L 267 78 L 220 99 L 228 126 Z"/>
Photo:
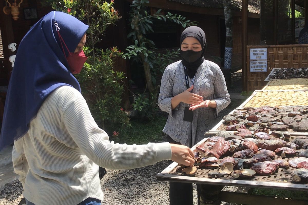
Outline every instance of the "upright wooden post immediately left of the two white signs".
<path fill-rule="evenodd" d="M 248 0 L 242 0 L 242 79 L 243 79 L 243 91 L 247 90 L 247 22 L 248 22 Z"/>

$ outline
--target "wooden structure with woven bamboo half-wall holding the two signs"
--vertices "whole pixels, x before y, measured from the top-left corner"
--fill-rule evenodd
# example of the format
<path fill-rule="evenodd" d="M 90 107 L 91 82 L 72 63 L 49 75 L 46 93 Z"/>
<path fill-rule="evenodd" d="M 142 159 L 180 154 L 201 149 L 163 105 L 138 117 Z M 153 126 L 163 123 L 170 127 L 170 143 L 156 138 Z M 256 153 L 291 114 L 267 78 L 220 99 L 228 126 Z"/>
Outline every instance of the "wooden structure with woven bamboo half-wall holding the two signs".
<path fill-rule="evenodd" d="M 242 67 L 243 89 L 261 90 L 266 85 L 266 76 L 273 68 L 308 67 L 308 44 L 298 44 L 298 29 L 308 24 L 308 0 L 261 0 L 260 45 L 249 42 L 249 1 L 242 0 Z M 301 23 L 296 19 L 295 10 L 304 14 Z M 297 20 L 297 23 L 296 23 Z M 264 70 L 253 70 L 254 60 L 250 59 L 250 49 L 266 50 Z M 264 64 L 264 65 L 265 65 Z M 246 68 L 246 69 L 245 69 Z"/>

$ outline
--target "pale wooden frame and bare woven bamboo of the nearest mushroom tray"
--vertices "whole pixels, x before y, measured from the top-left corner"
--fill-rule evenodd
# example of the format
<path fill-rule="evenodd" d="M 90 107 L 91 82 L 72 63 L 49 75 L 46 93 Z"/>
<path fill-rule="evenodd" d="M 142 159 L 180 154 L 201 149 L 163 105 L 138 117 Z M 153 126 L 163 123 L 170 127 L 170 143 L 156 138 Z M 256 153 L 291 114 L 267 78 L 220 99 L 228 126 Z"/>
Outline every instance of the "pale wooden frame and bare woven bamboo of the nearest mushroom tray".
<path fill-rule="evenodd" d="M 198 144 L 193 146 L 191 150 L 195 151 L 196 147 L 203 144 L 208 138 L 201 140 Z M 294 136 L 291 136 L 291 140 Z M 294 157 L 295 158 L 295 157 Z M 282 159 L 281 156 L 275 156 L 276 159 Z M 289 161 L 293 158 L 284 158 Z M 170 164 L 166 169 L 156 175 L 158 180 L 184 182 L 184 183 L 203 183 L 212 185 L 228 185 L 228 186 L 244 186 L 244 187 L 260 187 L 260 188 L 278 188 L 289 190 L 304 190 L 308 191 L 308 183 L 292 183 L 291 173 L 295 168 L 279 168 L 276 173 L 270 176 L 255 175 L 252 179 L 229 179 L 228 176 L 221 178 L 210 178 L 209 172 L 217 172 L 219 169 L 197 169 L 195 176 L 184 176 L 181 173 L 183 167 L 178 166 L 177 163 Z"/>

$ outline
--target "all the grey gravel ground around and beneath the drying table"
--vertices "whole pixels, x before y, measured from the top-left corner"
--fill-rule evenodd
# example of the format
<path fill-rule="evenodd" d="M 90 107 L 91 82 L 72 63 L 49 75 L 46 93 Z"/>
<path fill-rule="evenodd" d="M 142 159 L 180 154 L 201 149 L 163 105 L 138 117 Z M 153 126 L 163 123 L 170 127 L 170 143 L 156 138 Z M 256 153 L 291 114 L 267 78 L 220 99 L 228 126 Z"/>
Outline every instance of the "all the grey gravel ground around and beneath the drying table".
<path fill-rule="evenodd" d="M 233 89 L 230 93 L 241 92 L 241 73 L 232 76 Z M 219 113 L 219 118 L 229 114 L 241 104 L 232 102 Z M 164 141 L 164 140 L 163 140 Z M 132 170 L 110 170 L 101 180 L 104 192 L 103 205 L 168 205 L 169 183 L 157 181 L 156 174 L 168 166 L 164 160 L 151 166 Z M 197 205 L 197 187 L 193 185 L 194 205 Z M 225 186 L 223 191 L 236 191 L 237 187 Z M 17 205 L 22 196 L 22 185 L 19 181 L 0 190 L 0 205 Z M 229 205 L 222 202 L 221 205 Z"/>

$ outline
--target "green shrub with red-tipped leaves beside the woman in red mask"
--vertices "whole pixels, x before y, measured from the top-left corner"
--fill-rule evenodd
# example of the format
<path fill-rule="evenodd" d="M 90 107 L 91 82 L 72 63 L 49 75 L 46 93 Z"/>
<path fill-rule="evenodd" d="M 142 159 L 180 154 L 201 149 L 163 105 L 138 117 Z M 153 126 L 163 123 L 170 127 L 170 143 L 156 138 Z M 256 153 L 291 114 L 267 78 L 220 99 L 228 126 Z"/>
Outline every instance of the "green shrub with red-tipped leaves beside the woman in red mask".
<path fill-rule="evenodd" d="M 125 76 L 124 73 L 113 70 L 113 61 L 123 53 L 116 47 L 102 50 L 95 46 L 107 27 L 120 18 L 113 7 L 113 1 L 108 3 L 100 0 L 45 0 L 45 3 L 51 5 L 54 10 L 71 14 L 89 25 L 88 46 L 84 48 L 88 60 L 76 78 L 99 127 L 109 136 L 123 135 L 127 128 L 131 127 L 128 115 L 120 105 Z"/>

